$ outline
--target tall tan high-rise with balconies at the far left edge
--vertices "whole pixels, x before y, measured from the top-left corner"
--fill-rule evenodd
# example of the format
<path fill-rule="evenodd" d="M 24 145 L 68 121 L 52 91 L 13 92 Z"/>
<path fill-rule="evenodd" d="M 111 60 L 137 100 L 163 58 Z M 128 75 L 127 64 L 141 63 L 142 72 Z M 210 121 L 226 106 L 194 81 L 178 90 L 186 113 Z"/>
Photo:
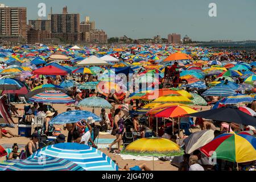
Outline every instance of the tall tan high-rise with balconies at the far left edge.
<path fill-rule="evenodd" d="M 8 41 L 27 42 L 27 8 L 0 5 L 0 36 Z"/>

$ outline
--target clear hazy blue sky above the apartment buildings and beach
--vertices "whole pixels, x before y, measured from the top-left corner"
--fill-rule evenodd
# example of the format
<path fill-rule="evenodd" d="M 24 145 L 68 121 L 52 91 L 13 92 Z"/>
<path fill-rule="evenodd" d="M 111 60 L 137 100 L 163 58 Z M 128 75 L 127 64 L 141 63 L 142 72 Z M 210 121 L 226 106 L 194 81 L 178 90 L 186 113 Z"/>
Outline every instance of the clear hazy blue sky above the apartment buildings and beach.
<path fill-rule="evenodd" d="M 126 35 L 132 39 L 167 38 L 170 33 L 192 40 L 256 40 L 255 0 L 0 0 L 6 6 L 27 7 L 27 19 L 38 18 L 38 4 L 47 14 L 80 13 L 90 16 L 97 29 L 108 37 Z M 217 16 L 210 17 L 209 3 L 216 3 Z"/>

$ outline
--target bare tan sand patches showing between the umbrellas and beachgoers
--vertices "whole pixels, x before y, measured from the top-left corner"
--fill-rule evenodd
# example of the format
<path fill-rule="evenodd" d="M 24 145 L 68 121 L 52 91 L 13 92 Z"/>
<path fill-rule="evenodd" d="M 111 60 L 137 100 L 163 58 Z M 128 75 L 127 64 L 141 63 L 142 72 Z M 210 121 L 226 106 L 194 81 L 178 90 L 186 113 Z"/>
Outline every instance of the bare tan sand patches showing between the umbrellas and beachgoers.
<path fill-rule="evenodd" d="M 23 104 L 15 104 L 15 106 L 19 109 L 18 113 L 19 114 L 23 114 Z M 67 105 L 63 105 L 63 104 L 54 104 L 53 107 L 55 108 L 55 110 L 58 111 L 58 113 L 63 113 L 67 110 L 67 108 L 69 108 L 69 106 Z M 208 106 L 195 106 L 196 108 L 199 108 L 198 110 L 202 109 L 203 110 L 207 110 L 209 109 Z M 70 107 L 72 110 L 74 110 L 75 108 L 73 106 Z M 92 111 L 92 108 L 88 108 L 88 107 L 82 107 L 83 110 L 88 110 L 88 111 Z M 109 112 L 109 110 L 106 110 L 107 112 Z M 95 109 L 95 114 L 100 115 L 100 109 Z M 18 122 L 18 118 L 13 118 L 14 122 Z M 63 125 L 55 125 L 55 127 L 60 127 L 61 128 L 61 133 L 64 134 L 66 137 L 68 135 L 68 131 L 67 130 L 63 130 Z M 17 125 L 15 125 L 14 129 L 11 128 L 7 128 L 7 130 L 10 130 L 12 133 L 14 134 L 18 134 L 18 127 Z M 110 134 L 106 134 L 106 135 L 100 135 L 99 138 L 115 138 L 113 135 Z M 67 139 L 67 138 L 66 138 Z M 8 145 L 12 145 L 13 143 L 18 143 L 18 145 L 24 146 L 26 145 L 28 142 L 30 141 L 29 138 L 26 137 L 15 137 L 15 138 L 6 138 L 3 137 L 2 139 L 0 139 L 0 145 L 4 144 L 8 144 Z M 22 150 L 22 148 L 20 148 Z M 100 149 L 102 152 L 104 152 L 106 155 L 108 155 L 110 158 L 112 158 L 113 160 L 115 160 L 118 163 L 118 166 L 123 168 L 126 164 L 129 164 L 129 167 L 133 167 L 135 165 L 139 165 L 139 164 L 147 164 L 148 167 L 150 167 L 151 169 L 153 169 L 153 162 L 152 161 L 144 161 L 144 160 L 123 160 L 121 158 L 121 156 L 119 155 L 115 155 L 113 153 L 110 153 L 108 150 L 106 149 Z M 5 160 L 5 157 L 0 158 L 0 161 Z M 154 162 L 154 169 L 157 171 L 177 171 L 177 168 L 172 166 L 170 164 L 170 161 L 167 162 L 162 162 L 160 160 L 156 160 Z"/>

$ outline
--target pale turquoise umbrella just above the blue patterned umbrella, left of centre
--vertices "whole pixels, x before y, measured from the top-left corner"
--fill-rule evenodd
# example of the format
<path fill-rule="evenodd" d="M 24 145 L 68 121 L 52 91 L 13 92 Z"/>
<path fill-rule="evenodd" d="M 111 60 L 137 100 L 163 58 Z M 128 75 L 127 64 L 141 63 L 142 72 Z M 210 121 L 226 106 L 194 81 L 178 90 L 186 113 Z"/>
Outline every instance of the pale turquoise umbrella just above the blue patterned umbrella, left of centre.
<path fill-rule="evenodd" d="M 84 100 L 81 100 L 78 106 L 100 107 L 105 109 L 112 109 L 112 105 L 107 100 L 101 97 L 96 97 L 96 96 L 88 97 L 88 98 L 85 98 Z"/>

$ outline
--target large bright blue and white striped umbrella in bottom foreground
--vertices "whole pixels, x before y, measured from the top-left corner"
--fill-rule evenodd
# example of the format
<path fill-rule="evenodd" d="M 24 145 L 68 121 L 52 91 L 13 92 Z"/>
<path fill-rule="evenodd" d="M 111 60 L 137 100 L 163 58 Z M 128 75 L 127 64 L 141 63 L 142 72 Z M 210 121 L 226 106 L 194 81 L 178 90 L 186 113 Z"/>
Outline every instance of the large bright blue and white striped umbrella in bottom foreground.
<path fill-rule="evenodd" d="M 86 171 L 118 171 L 118 166 L 112 159 L 86 144 L 58 143 L 38 150 L 30 158 L 42 155 L 71 160 Z"/>

